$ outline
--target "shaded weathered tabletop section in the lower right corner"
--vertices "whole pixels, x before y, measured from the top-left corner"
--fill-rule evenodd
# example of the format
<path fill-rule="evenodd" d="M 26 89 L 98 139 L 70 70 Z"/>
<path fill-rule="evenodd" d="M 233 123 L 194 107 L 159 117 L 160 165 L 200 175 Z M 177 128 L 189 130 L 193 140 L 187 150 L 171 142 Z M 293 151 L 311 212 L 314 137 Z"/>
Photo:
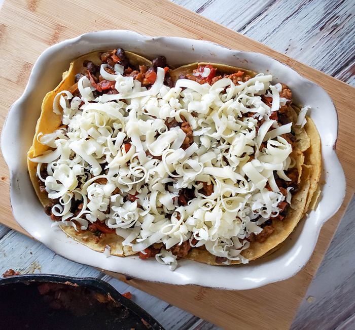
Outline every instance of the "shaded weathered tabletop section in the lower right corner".
<path fill-rule="evenodd" d="M 355 197 L 308 288 L 291 327 L 292 330 L 335 329 L 341 324 L 349 325 L 348 319 L 355 314 L 354 218 Z M 342 328 L 354 327 L 344 325 Z"/>

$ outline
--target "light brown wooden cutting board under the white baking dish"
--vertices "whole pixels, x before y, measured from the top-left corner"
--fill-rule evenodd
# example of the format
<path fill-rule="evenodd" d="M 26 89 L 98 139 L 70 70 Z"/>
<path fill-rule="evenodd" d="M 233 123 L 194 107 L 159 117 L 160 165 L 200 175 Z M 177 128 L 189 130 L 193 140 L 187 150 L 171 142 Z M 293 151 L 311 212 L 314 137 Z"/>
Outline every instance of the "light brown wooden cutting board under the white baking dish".
<path fill-rule="evenodd" d="M 1 127 L 11 104 L 22 94 L 33 63 L 48 46 L 104 29 L 204 39 L 237 50 L 264 53 L 321 85 L 333 98 L 339 114 L 337 153 L 347 179 L 346 197 L 339 212 L 324 225 L 311 260 L 296 276 L 254 290 L 233 292 L 150 283 L 110 273 L 227 329 L 289 328 L 355 191 L 355 89 L 168 0 L 5 0 L 0 11 Z M 11 213 L 9 173 L 2 157 L 0 177 L 0 222 L 25 233 Z"/>

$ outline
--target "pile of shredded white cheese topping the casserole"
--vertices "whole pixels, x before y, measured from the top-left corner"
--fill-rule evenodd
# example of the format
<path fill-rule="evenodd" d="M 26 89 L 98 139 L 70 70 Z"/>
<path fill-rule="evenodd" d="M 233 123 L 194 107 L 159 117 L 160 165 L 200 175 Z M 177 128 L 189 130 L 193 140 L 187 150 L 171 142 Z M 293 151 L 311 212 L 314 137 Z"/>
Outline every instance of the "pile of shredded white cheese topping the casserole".
<path fill-rule="evenodd" d="M 195 238 L 193 246 L 204 245 L 212 255 L 227 258 L 227 264 L 247 263 L 240 255 L 249 246 L 246 237 L 260 233 L 258 225 L 277 216 L 277 204 L 285 199 L 273 171 L 290 181 L 284 171 L 294 166 L 292 146 L 280 136 L 292 124 L 279 127 L 269 118 L 288 101 L 279 97 L 281 85 L 271 85 L 272 75 L 260 73 L 236 86 L 228 78 L 212 86 L 180 79 L 169 88 L 163 85 L 164 69 L 158 68 L 147 90 L 123 76 L 122 66 L 116 64 L 116 74 L 104 68 L 100 74 L 116 81 L 119 94 L 95 98 L 83 76 L 81 98 L 62 91 L 54 100 L 63 127 L 37 137 L 51 147 L 30 160 L 38 162 L 49 198 L 59 198 L 52 212 L 62 221 L 54 225 L 76 228 L 70 221 L 76 220 L 87 229 L 89 223 L 105 221 L 136 252 L 159 242 L 166 250 L 185 240 L 193 245 Z M 271 108 L 261 99 L 265 94 L 272 97 Z M 182 122 L 181 115 L 193 131 L 194 142 L 186 150 L 181 148 L 185 133 L 180 127 L 168 130 L 165 123 Z M 258 119 L 265 120 L 259 130 Z M 43 163 L 48 164 L 45 179 Z M 99 178 L 108 183 L 95 182 Z M 213 184 L 210 196 L 201 193 L 203 182 Z M 273 191 L 265 188 L 267 183 Z M 113 194 L 116 188 L 119 194 Z M 185 207 L 175 198 L 183 188 L 194 189 L 196 196 Z M 136 193 L 135 201 L 126 200 Z M 77 216 L 70 213 L 73 197 L 83 200 Z M 291 201 L 290 192 L 286 199 Z M 157 259 L 173 265 L 175 256 L 166 250 Z"/>

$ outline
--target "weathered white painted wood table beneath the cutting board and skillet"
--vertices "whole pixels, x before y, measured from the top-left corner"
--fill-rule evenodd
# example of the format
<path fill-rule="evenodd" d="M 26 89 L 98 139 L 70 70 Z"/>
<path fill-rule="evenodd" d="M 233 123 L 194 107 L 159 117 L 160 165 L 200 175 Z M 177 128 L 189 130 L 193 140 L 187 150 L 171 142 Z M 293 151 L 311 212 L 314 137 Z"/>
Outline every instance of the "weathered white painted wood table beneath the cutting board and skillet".
<path fill-rule="evenodd" d="M 355 86 L 353 0 L 174 2 Z M 293 330 L 355 329 L 354 216 L 355 198 L 299 308 Z M 167 330 L 219 329 L 94 268 L 63 259 L 43 244 L 0 225 L 0 275 L 9 268 L 21 274 L 52 273 L 101 278 L 121 293 L 130 291 L 132 300 Z"/>

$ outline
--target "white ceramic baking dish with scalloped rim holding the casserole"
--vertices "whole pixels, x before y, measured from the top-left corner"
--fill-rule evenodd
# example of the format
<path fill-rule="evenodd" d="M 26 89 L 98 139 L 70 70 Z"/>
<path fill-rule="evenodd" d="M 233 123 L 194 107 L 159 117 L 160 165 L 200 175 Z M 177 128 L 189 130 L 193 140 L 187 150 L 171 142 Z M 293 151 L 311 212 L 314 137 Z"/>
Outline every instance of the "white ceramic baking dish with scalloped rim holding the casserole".
<path fill-rule="evenodd" d="M 322 140 L 322 199 L 308 218 L 302 219 L 280 250 L 247 265 L 210 266 L 189 260 L 169 267 L 136 256 L 106 258 L 66 236 L 44 213 L 27 172 L 26 154 L 34 135 L 45 94 L 53 90 L 69 63 L 80 55 L 122 47 L 147 58 L 164 55 L 175 67 L 210 61 L 271 73 L 287 84 L 300 105 L 312 107 L 311 118 Z M 322 225 L 339 209 L 345 195 L 345 177 L 335 153 L 337 112 L 329 95 L 312 81 L 271 57 L 247 53 L 205 42 L 177 37 L 149 37 L 132 31 L 108 30 L 86 33 L 51 46 L 34 64 L 23 95 L 13 104 L 2 134 L 2 152 L 10 169 L 10 195 L 17 222 L 34 238 L 70 260 L 131 277 L 171 284 L 198 284 L 229 290 L 245 290 L 295 275 L 307 263 Z"/>

